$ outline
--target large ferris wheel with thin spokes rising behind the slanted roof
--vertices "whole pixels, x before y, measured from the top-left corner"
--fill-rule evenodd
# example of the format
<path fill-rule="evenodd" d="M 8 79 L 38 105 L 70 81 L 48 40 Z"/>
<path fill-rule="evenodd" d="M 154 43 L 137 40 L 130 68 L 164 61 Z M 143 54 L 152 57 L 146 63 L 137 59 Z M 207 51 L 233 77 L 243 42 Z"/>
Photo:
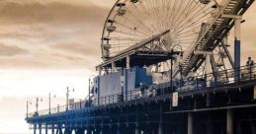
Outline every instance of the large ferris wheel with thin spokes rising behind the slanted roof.
<path fill-rule="evenodd" d="M 202 25 L 213 20 L 215 4 L 221 1 L 118 0 L 103 29 L 102 57 L 107 60 L 159 33 L 164 33 L 159 48 L 169 51 L 179 44 L 186 52 L 200 37 Z"/>

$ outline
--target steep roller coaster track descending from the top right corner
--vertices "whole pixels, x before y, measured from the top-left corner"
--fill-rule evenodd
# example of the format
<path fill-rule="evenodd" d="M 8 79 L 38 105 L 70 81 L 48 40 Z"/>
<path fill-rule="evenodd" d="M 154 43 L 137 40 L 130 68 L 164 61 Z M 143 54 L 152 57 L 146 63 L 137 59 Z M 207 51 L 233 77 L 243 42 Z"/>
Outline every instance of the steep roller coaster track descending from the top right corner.
<path fill-rule="evenodd" d="M 213 51 L 221 39 L 229 33 L 234 26 L 233 19 L 222 18 L 222 15 L 242 16 L 253 2 L 254 0 L 227 0 L 221 3 L 221 10 L 213 23 L 210 24 L 210 27 L 202 34 L 195 45 L 184 54 L 180 65 L 177 65 L 174 69 L 174 76 L 180 71 L 179 66 L 181 66 L 184 76 L 188 75 L 190 71 L 197 71 L 206 59 L 204 55 L 197 55 L 194 52 L 196 50 Z"/>

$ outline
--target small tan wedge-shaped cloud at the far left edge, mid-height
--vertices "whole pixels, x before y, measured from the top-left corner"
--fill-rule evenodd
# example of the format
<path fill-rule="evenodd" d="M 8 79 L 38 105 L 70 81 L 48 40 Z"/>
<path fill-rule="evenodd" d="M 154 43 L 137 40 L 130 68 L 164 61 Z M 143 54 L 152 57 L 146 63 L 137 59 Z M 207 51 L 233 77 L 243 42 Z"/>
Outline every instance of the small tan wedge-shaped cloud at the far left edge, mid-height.
<path fill-rule="evenodd" d="M 1 56 L 17 56 L 29 54 L 30 51 L 20 48 L 16 45 L 5 45 L 0 43 L 0 55 Z"/>

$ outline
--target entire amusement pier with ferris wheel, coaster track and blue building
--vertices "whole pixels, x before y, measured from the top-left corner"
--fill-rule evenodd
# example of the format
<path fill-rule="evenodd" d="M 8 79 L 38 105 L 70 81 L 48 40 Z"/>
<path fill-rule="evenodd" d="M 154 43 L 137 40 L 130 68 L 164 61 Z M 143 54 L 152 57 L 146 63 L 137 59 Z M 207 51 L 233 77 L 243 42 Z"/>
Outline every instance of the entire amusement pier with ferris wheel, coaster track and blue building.
<path fill-rule="evenodd" d="M 27 122 L 35 134 L 255 134 L 256 72 L 240 65 L 253 1 L 118 0 L 88 98 Z"/>

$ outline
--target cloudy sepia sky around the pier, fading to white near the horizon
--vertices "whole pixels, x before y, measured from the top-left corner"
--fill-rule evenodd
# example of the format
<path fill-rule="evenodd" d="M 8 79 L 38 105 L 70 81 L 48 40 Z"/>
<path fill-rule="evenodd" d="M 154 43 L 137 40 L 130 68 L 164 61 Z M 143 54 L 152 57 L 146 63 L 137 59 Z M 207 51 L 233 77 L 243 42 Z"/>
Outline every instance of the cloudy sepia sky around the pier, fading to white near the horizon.
<path fill-rule="evenodd" d="M 30 133 L 26 100 L 56 95 L 52 105 L 84 99 L 102 62 L 100 38 L 115 0 L 0 0 L 0 134 Z M 242 63 L 256 59 L 256 4 L 244 15 Z M 232 32 L 229 43 L 232 45 Z M 230 48 L 232 53 L 232 48 Z M 4 120 L 4 121 L 3 121 Z M 17 126 L 13 129 L 13 126 Z"/>

